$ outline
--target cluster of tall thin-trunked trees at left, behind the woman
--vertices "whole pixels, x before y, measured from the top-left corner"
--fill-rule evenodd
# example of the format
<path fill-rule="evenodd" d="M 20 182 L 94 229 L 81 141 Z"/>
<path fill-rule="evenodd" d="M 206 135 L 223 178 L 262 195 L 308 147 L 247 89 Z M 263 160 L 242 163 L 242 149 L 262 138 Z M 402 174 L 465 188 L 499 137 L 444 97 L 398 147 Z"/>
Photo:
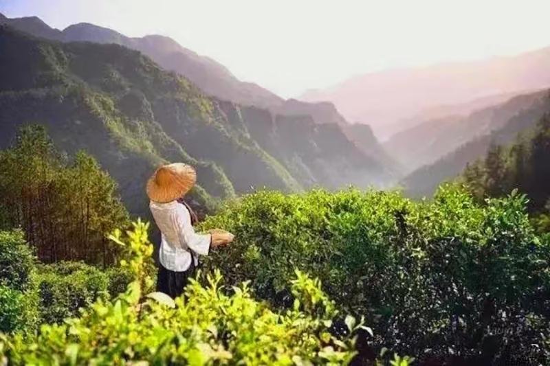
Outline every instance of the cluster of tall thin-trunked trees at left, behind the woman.
<path fill-rule="evenodd" d="M 22 128 L 0 152 L 2 227 L 22 227 L 43 262 L 112 263 L 105 234 L 126 225 L 127 213 L 109 174 L 85 152 L 67 161 L 39 126 Z"/>

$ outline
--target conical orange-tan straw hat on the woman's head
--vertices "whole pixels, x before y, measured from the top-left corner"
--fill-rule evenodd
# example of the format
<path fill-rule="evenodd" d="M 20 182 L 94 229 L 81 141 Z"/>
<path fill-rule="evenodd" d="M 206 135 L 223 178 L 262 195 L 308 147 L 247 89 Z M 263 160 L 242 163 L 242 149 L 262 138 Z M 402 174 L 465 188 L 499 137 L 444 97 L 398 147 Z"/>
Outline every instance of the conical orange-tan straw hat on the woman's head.
<path fill-rule="evenodd" d="M 147 182 L 147 196 L 151 201 L 167 203 L 183 197 L 195 185 L 197 172 L 190 165 L 172 163 L 155 171 Z"/>

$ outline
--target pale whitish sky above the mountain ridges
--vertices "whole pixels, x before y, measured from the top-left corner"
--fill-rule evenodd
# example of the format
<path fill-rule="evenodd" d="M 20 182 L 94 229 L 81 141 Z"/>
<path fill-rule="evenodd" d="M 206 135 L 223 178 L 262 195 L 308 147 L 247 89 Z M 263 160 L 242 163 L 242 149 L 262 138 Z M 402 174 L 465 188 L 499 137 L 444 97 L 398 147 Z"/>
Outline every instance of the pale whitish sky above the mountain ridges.
<path fill-rule="evenodd" d="M 285 98 L 381 69 L 550 45 L 550 0 L 0 0 L 0 12 L 164 34 Z"/>

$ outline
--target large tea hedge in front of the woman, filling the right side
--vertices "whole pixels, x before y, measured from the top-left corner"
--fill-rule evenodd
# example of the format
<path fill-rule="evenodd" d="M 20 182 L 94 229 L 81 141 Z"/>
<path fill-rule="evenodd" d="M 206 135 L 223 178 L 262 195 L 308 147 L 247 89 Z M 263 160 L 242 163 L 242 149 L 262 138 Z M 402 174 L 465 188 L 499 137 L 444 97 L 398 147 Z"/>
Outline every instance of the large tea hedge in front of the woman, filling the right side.
<path fill-rule="evenodd" d="M 421 360 L 504 362 L 550 356 L 550 243 L 533 233 L 525 196 L 483 205 L 461 187 L 430 202 L 398 192 L 257 192 L 201 229 L 236 240 L 205 267 L 292 306 L 294 268 L 318 277 L 340 310 L 364 316 L 377 348 Z"/>

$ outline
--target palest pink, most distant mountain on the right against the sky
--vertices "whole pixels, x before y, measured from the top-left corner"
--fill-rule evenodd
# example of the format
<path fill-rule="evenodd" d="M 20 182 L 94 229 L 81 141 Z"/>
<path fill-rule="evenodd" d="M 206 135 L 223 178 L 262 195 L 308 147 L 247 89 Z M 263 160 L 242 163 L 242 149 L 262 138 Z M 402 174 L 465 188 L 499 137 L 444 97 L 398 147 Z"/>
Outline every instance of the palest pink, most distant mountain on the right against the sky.
<path fill-rule="evenodd" d="M 518 56 L 395 69 L 352 78 L 300 96 L 336 104 L 348 120 L 370 124 L 380 139 L 395 123 L 441 104 L 463 104 L 502 93 L 550 86 L 550 47 Z"/>

